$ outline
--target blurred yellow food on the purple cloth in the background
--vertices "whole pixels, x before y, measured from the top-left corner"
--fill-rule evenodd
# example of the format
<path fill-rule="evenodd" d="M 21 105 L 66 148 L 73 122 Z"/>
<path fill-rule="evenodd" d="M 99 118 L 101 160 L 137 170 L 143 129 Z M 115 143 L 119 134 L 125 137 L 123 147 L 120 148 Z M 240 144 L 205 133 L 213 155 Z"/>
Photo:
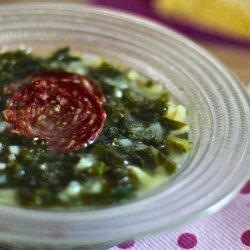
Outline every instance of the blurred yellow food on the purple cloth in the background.
<path fill-rule="evenodd" d="M 154 0 L 153 5 L 162 14 L 250 39 L 250 0 Z"/>

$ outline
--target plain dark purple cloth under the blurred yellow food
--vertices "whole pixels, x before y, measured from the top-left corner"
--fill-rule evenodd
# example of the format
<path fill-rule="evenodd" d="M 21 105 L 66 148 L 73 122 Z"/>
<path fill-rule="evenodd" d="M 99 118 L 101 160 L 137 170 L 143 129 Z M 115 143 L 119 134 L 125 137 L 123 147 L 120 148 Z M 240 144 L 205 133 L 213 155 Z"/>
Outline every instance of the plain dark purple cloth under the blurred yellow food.
<path fill-rule="evenodd" d="M 154 12 L 151 6 L 151 0 L 93 0 L 92 2 L 96 5 L 107 6 L 146 16 L 162 24 L 168 25 L 191 38 L 193 37 L 195 39 L 225 43 L 250 49 L 250 41 L 223 36 L 220 33 L 204 30 L 202 27 L 185 23 L 181 20 L 174 19 L 173 17 L 161 17 Z"/>

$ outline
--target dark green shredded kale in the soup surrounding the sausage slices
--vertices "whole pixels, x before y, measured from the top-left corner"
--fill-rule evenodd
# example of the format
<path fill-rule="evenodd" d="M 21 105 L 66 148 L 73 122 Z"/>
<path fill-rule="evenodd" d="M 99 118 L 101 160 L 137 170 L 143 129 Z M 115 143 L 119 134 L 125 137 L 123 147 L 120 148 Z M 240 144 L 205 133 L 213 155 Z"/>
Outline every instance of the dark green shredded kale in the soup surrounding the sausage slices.
<path fill-rule="evenodd" d="M 22 50 L 0 54 L 0 124 L 7 103 L 3 97 L 7 84 L 42 70 L 67 70 L 72 63 L 81 63 L 81 58 L 72 56 L 69 48 L 48 57 Z M 142 188 L 131 166 L 152 177 L 161 168 L 169 176 L 177 168 L 170 158 L 172 147 L 180 149 L 180 154 L 190 149 L 187 132 L 169 136 L 187 125 L 166 116 L 169 94 L 163 91 L 151 99 L 138 85 L 144 84 L 141 89 L 148 91 L 156 83 L 131 80 L 127 71 L 107 62 L 82 67 L 106 96 L 105 126 L 89 147 L 55 155 L 45 141 L 12 134 L 7 128 L 1 131 L 0 127 L 0 165 L 6 165 L 0 168 L 0 192 L 14 189 L 21 206 L 104 206 L 126 201 Z M 139 87 L 133 88 L 136 84 Z M 18 153 L 11 152 L 13 145 Z M 80 185 L 80 189 L 71 189 L 74 185 Z"/>

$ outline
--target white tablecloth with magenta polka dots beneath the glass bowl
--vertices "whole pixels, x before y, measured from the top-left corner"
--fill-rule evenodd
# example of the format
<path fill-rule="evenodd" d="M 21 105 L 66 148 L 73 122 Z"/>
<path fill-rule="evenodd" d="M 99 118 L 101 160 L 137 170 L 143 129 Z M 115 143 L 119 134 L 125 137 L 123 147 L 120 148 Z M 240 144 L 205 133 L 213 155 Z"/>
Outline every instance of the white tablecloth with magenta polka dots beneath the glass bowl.
<path fill-rule="evenodd" d="M 108 250 L 250 250 L 250 180 L 214 215 L 170 233 L 136 239 Z"/>

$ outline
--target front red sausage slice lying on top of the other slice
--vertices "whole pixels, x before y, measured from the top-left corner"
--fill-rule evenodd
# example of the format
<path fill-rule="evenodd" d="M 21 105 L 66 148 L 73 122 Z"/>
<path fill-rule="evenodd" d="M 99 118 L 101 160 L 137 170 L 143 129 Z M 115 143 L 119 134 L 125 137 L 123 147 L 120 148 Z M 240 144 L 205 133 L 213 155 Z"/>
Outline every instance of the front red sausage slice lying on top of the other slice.
<path fill-rule="evenodd" d="M 99 99 L 73 80 L 36 80 L 29 83 L 4 111 L 13 133 L 39 137 L 60 153 L 92 143 L 106 118 Z"/>

